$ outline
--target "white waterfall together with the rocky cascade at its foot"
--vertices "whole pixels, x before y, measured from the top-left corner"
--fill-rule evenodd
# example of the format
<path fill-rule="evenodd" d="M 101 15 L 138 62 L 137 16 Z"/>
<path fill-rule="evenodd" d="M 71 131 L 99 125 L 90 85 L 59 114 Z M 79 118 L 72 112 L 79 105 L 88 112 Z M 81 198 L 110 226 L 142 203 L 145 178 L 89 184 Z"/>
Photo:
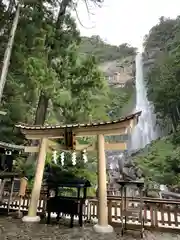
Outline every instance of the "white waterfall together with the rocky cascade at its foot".
<path fill-rule="evenodd" d="M 118 178 L 136 180 L 142 177 L 142 173 L 136 169 L 130 157 L 131 151 L 137 151 L 145 147 L 158 137 L 156 116 L 153 114 L 152 104 L 147 100 L 147 91 L 143 77 L 142 54 L 137 54 L 136 56 L 136 108 L 134 111 L 142 111 L 142 113 L 131 135 L 130 145 L 128 144 L 128 152 L 111 153 L 111 156 L 107 156 L 107 159 L 111 163 L 109 171 L 111 179 L 110 184 L 112 184 L 115 189 L 116 179 Z M 117 159 L 116 162 L 115 159 Z M 115 173 L 118 174 L 115 175 Z M 136 191 L 132 188 L 128 188 L 127 195 L 136 196 Z"/>

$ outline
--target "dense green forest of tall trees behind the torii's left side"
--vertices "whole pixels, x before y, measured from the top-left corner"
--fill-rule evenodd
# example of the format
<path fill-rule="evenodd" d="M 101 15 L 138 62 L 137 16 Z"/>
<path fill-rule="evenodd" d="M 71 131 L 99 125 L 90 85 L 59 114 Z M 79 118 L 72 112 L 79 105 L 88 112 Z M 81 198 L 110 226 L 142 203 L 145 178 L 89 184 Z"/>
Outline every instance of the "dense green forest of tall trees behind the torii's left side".
<path fill-rule="evenodd" d="M 75 123 L 122 115 L 132 91 L 108 86 L 98 66 L 103 61 L 135 56 L 136 49 L 127 43 L 112 46 L 99 36 L 82 37 L 72 17 L 77 2 L 26 0 L 20 4 L 13 0 L 1 1 L 1 69 L 8 40 L 12 37 L 13 21 L 18 15 L 1 99 L 1 110 L 6 112 L 6 115 L 0 115 L 1 141 L 29 144 L 14 127 L 18 122 L 36 125 Z M 89 0 L 89 4 L 97 7 L 101 2 Z M 27 165 L 26 158 L 18 157 L 15 169 L 26 173 L 33 181 L 34 161 L 31 159 L 31 164 Z M 66 154 L 64 171 L 86 176 L 93 182 L 96 157 L 88 157 L 88 168 L 79 158 L 81 155 L 77 156 L 76 167 L 72 167 L 70 156 Z M 51 160 L 52 156 L 48 156 L 47 163 Z"/>

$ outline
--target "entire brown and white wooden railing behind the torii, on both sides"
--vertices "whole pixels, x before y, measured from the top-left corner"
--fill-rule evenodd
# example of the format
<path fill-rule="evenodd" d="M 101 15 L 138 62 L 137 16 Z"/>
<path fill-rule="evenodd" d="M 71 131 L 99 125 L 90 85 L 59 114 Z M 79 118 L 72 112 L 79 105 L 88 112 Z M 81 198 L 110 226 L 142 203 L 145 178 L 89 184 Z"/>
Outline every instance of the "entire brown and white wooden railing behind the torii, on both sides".
<path fill-rule="evenodd" d="M 30 191 L 27 191 L 26 196 L 21 202 L 21 210 L 27 211 L 30 202 Z M 45 209 L 46 204 L 46 191 L 42 191 L 38 203 L 38 212 Z M 128 205 L 137 208 L 139 205 L 139 198 L 128 198 Z M 8 202 L 4 196 L 1 208 L 7 208 Z M 97 208 L 98 201 L 96 198 L 88 198 L 84 209 L 84 219 L 89 221 L 97 221 Z M 11 210 L 17 210 L 19 207 L 19 200 L 14 196 L 13 201 L 10 203 Z M 108 196 L 108 221 L 109 224 L 120 224 L 121 217 L 121 198 Z M 146 227 L 151 228 L 168 228 L 180 230 L 180 201 L 163 200 L 143 198 L 143 214 L 144 223 Z M 129 217 L 128 224 L 139 225 L 140 222 L 137 218 Z"/>

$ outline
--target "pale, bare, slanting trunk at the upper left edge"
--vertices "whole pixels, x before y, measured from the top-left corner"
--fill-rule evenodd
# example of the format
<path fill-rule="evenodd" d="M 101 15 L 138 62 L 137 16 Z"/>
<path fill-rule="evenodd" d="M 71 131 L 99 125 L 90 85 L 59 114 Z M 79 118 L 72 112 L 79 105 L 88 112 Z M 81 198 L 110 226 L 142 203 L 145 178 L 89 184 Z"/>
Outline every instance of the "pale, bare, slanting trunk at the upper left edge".
<path fill-rule="evenodd" d="M 5 83 L 6 83 L 12 47 L 14 44 L 14 37 L 16 34 L 16 29 L 17 29 L 17 25 L 18 25 L 18 21 L 19 21 L 19 14 L 20 14 L 20 4 L 17 5 L 15 17 L 14 17 L 12 28 L 11 28 L 10 35 L 9 35 L 9 40 L 8 40 L 7 47 L 6 47 L 6 50 L 4 53 L 2 72 L 1 72 L 1 78 L 0 78 L 0 103 L 2 100 L 3 90 L 4 90 Z"/>

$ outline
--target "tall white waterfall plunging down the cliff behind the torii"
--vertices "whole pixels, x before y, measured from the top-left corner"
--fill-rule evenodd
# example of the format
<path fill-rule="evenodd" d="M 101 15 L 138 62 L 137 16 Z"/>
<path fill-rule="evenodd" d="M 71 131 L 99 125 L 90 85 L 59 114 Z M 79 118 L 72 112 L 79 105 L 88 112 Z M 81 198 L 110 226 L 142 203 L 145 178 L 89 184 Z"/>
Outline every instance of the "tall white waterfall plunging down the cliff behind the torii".
<path fill-rule="evenodd" d="M 147 90 L 143 77 L 142 54 L 136 56 L 136 108 L 142 111 L 139 122 L 131 136 L 131 150 L 144 148 L 152 140 L 158 138 L 156 116 L 153 114 L 153 106 L 147 99 Z"/>

